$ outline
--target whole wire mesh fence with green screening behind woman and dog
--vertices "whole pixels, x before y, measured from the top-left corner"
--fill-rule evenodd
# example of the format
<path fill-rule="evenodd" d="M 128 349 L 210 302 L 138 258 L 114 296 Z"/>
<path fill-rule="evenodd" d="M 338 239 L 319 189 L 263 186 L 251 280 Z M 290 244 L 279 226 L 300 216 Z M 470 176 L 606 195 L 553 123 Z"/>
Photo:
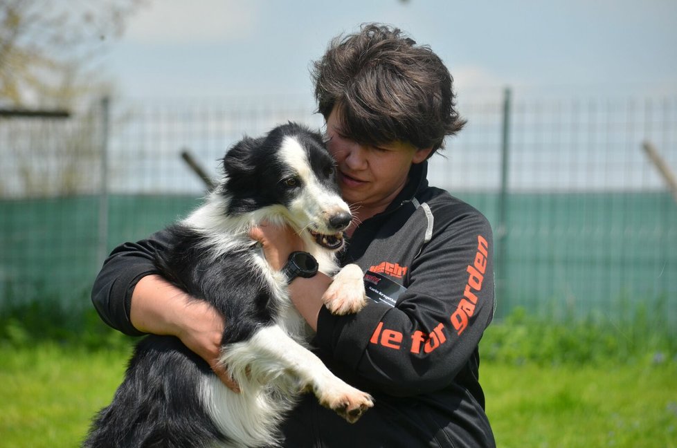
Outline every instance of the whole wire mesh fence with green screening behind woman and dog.
<path fill-rule="evenodd" d="M 677 97 L 506 91 L 459 109 L 467 127 L 431 159 L 429 178 L 491 221 L 498 316 L 516 306 L 558 318 L 641 310 L 674 328 Z M 0 117 L 0 309 L 88 306 L 105 254 L 204 194 L 182 152 L 216 176 L 228 146 L 287 120 L 322 125 L 293 98 L 104 100 L 70 118 Z"/>

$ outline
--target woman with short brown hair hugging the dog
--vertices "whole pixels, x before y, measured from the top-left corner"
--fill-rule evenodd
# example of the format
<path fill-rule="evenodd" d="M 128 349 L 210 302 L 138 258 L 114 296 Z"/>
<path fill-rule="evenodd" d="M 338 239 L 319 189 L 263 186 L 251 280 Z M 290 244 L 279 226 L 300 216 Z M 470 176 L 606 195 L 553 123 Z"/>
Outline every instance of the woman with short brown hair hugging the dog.
<path fill-rule="evenodd" d="M 334 39 L 313 76 L 355 216 L 341 263 L 363 269 L 373 300 L 332 315 L 321 302 L 323 274 L 294 279 L 290 292 L 316 330 L 318 355 L 376 404 L 349 425 L 307 396 L 285 423 L 284 446 L 494 447 L 478 382 L 478 343 L 494 311 L 491 227 L 426 180 L 428 158 L 464 124 L 451 75 L 429 48 L 370 24 Z M 252 235 L 273 268 L 303 250 L 288 229 Z M 229 384 L 217 365 L 228 317 L 158 277 L 158 250 L 161 233 L 116 249 L 93 289 L 97 310 L 130 335 L 178 336 Z"/>

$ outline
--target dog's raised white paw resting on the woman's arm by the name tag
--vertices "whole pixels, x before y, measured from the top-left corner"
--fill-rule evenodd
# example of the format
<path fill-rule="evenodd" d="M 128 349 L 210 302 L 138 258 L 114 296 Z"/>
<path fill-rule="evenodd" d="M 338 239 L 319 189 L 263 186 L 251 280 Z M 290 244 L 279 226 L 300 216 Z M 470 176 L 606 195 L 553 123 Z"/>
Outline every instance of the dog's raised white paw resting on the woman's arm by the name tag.
<path fill-rule="evenodd" d="M 362 270 L 358 265 L 346 265 L 334 276 L 334 281 L 322 296 L 332 314 L 358 312 L 367 304 Z"/>

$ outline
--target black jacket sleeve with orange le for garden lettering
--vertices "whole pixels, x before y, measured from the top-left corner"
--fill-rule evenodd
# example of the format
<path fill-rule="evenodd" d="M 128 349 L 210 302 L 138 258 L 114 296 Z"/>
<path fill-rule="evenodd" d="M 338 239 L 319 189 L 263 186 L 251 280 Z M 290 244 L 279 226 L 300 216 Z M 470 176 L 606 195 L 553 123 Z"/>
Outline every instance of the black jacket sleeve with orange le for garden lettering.
<path fill-rule="evenodd" d="M 370 302 L 356 315 L 323 309 L 318 318 L 317 344 L 392 395 L 450 384 L 493 318 L 491 227 L 471 207 L 457 212 L 433 229 L 394 308 Z"/>

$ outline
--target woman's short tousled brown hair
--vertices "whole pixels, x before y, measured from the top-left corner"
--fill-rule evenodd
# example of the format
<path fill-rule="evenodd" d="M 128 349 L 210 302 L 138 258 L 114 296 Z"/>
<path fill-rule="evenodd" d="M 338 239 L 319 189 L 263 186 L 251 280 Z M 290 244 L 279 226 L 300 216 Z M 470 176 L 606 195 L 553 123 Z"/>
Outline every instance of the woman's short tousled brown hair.
<path fill-rule="evenodd" d="M 397 28 L 365 24 L 336 37 L 312 77 L 318 112 L 326 120 L 339 106 L 343 130 L 364 144 L 399 140 L 432 154 L 465 124 L 442 59 Z"/>

